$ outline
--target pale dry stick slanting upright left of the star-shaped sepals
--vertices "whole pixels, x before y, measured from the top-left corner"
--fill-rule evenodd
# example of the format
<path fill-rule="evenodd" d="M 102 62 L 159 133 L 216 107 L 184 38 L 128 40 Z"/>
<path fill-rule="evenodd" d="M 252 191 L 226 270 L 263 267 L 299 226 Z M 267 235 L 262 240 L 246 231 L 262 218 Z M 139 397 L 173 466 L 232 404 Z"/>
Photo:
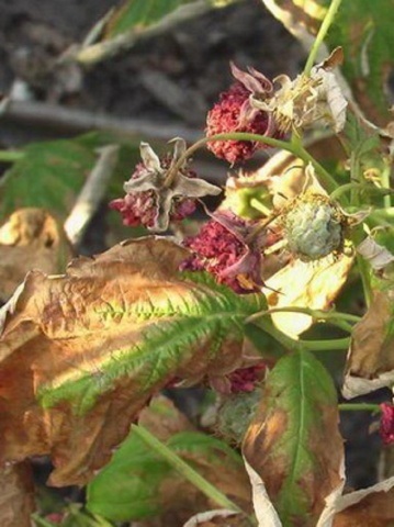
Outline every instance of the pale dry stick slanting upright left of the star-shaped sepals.
<path fill-rule="evenodd" d="M 72 245 L 78 245 L 103 199 L 108 182 L 117 162 L 119 145 L 108 145 L 97 152 L 100 157 L 65 222 L 65 231 Z"/>

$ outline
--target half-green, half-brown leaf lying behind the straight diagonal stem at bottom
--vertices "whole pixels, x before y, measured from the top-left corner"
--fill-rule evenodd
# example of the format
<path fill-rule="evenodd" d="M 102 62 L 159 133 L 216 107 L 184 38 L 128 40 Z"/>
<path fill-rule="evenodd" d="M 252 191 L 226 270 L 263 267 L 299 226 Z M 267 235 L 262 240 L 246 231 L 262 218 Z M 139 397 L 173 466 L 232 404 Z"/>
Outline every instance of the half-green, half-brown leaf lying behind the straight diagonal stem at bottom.
<path fill-rule="evenodd" d="M 139 423 L 217 489 L 249 505 L 241 458 L 225 442 L 195 431 L 162 396 L 143 411 Z M 87 505 L 92 513 L 113 522 L 166 515 L 182 525 L 213 504 L 131 433 L 111 462 L 89 483 Z"/>

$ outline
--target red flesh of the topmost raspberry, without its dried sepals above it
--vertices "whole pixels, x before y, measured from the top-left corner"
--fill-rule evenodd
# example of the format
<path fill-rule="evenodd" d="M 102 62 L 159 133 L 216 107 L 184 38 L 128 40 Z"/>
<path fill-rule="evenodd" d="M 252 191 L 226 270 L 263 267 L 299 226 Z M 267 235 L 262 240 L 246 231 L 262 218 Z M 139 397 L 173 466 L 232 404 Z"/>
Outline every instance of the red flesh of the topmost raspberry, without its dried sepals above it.
<path fill-rule="evenodd" d="M 250 121 L 240 124 L 240 113 L 245 103 L 249 100 L 250 92 L 240 83 L 234 83 L 228 91 L 219 96 L 213 109 L 206 117 L 206 136 L 228 132 L 248 132 L 251 134 L 264 135 L 269 119 L 266 112 L 258 112 Z M 251 141 L 212 141 L 207 148 L 221 159 L 232 165 L 251 157 L 262 143 Z"/>

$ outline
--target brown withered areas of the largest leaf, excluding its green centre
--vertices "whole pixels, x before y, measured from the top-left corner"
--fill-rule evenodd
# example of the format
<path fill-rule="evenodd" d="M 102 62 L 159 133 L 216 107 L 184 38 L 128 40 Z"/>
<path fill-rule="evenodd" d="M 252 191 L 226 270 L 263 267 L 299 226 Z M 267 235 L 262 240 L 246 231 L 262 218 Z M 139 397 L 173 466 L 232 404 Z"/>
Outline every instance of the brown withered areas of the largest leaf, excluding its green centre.
<path fill-rule="evenodd" d="M 169 302 L 183 306 L 214 294 L 204 283 L 179 278 L 187 254 L 170 240 L 140 238 L 79 258 L 66 276 L 26 277 L 0 316 L 0 461 L 49 453 L 56 468 L 52 484 L 85 484 L 155 392 L 173 379 L 233 371 L 241 343 L 229 332 L 215 356 L 206 335 L 180 357 L 146 367 L 140 356 L 132 372 L 122 366 L 111 373 L 123 365 L 122 354 L 135 349 L 142 328 L 155 329 L 158 317 L 172 319 L 166 318 Z M 65 385 L 68 392 L 46 407 L 38 401 Z"/>

